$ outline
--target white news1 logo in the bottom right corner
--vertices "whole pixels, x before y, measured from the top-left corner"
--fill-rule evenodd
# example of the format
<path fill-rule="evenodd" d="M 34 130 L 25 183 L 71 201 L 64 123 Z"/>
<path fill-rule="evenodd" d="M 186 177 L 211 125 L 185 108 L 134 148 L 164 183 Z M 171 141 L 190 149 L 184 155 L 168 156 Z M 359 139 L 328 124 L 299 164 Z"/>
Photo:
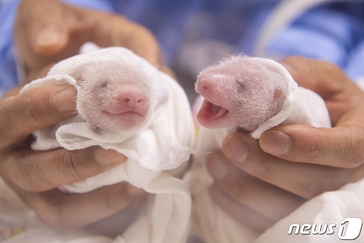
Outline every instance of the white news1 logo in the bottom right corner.
<path fill-rule="evenodd" d="M 340 226 L 339 231 L 337 232 L 337 236 L 341 240 L 355 240 L 359 237 L 361 226 L 363 225 L 363 221 L 359 218 L 346 218 L 341 221 L 341 225 L 347 224 L 346 231 L 344 232 L 345 226 Z M 334 228 L 336 224 L 291 224 L 288 229 L 288 234 L 292 235 L 293 228 L 295 228 L 294 234 L 298 235 L 298 233 L 302 235 L 309 235 L 312 233 L 313 235 L 332 235 L 334 234 Z"/>

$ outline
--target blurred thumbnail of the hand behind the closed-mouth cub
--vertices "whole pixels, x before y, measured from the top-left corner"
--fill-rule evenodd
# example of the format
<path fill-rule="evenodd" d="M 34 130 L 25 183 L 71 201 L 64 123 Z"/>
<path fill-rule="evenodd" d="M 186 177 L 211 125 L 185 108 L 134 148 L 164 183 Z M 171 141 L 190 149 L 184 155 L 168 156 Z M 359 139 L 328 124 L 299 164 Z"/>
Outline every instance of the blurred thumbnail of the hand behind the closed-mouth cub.
<path fill-rule="evenodd" d="M 36 45 L 40 47 L 58 44 L 62 37 L 61 31 L 54 25 L 49 25 L 35 32 Z"/>

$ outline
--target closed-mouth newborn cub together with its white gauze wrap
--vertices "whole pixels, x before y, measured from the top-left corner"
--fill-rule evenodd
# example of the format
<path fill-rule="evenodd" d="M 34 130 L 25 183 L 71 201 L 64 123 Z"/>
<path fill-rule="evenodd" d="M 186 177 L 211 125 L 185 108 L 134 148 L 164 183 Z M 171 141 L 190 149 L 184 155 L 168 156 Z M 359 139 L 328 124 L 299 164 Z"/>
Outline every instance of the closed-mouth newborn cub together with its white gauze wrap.
<path fill-rule="evenodd" d="M 120 232 L 118 240 L 184 242 L 189 232 L 191 198 L 179 177 L 193 150 L 194 127 L 181 86 L 123 47 L 65 59 L 21 92 L 48 84 L 75 86 L 78 113 L 34 132 L 33 149 L 77 150 L 99 145 L 127 157 L 124 163 L 64 185 L 62 190 L 85 193 L 129 182 L 150 194 L 145 208 L 125 232 Z"/>

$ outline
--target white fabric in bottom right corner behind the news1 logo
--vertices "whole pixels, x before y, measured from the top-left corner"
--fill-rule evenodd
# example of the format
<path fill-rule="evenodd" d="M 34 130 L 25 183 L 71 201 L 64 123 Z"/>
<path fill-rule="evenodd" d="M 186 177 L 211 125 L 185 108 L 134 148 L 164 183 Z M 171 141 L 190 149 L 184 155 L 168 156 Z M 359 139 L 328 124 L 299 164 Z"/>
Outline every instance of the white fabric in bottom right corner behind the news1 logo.
<path fill-rule="evenodd" d="M 296 209 L 293 213 L 278 221 L 272 228 L 262 234 L 256 242 L 343 242 L 338 232 L 341 221 L 347 217 L 364 219 L 364 179 L 343 186 L 340 190 L 323 193 Z M 336 224 L 332 235 L 288 235 L 289 226 L 302 224 Z M 346 228 L 347 226 L 345 226 Z M 294 228 L 295 229 L 295 228 Z M 360 234 L 354 242 L 364 242 L 364 234 Z"/>

